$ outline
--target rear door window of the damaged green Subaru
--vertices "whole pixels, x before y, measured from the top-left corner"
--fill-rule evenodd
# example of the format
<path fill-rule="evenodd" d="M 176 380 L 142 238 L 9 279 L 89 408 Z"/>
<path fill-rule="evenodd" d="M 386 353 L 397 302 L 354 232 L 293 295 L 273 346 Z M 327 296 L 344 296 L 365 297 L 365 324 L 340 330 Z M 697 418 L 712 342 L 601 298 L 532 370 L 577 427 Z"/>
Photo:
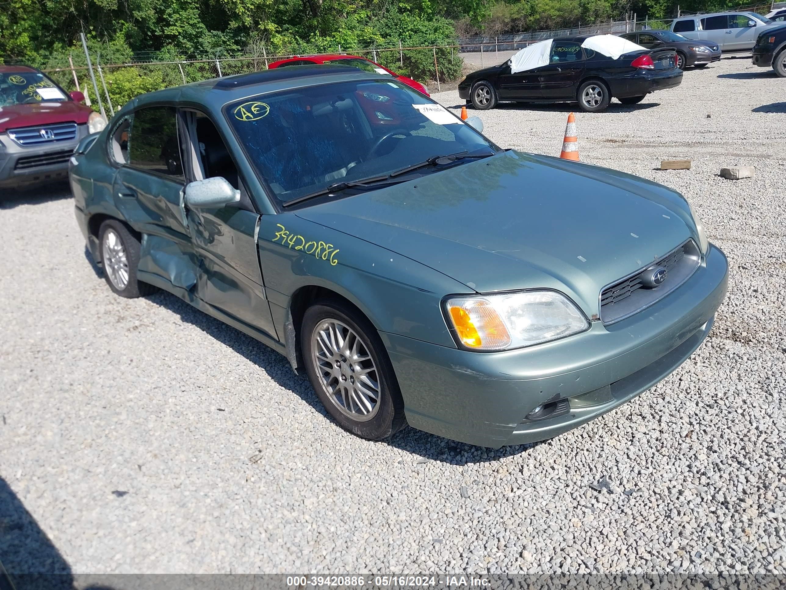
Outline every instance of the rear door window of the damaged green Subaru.
<path fill-rule="evenodd" d="M 174 107 L 154 106 L 134 112 L 128 156 L 134 168 L 184 179 Z"/>

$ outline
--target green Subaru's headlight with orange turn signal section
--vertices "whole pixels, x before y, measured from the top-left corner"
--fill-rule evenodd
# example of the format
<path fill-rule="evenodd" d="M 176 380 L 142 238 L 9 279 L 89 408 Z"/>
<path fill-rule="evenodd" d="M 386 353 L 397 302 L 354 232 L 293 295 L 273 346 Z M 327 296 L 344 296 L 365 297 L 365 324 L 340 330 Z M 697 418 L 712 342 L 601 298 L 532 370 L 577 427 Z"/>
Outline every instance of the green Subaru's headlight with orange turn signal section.
<path fill-rule="evenodd" d="M 556 291 L 453 297 L 445 309 L 457 341 L 470 350 L 531 346 L 589 328 L 581 310 Z"/>

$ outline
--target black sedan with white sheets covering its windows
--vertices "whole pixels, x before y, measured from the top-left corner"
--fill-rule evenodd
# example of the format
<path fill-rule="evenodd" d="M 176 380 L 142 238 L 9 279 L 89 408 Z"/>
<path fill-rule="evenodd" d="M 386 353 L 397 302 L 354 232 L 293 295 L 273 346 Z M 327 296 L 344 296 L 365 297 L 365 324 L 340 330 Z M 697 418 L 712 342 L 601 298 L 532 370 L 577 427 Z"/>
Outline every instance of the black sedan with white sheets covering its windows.
<path fill-rule="evenodd" d="M 639 48 L 614 59 L 583 47 L 587 39 L 554 39 L 548 63 L 525 72 L 512 72 L 512 59 L 472 72 L 459 83 L 458 94 L 476 109 L 492 109 L 499 101 L 578 101 L 583 111 L 598 112 L 612 97 L 635 105 L 654 90 L 682 81 L 673 50 Z"/>

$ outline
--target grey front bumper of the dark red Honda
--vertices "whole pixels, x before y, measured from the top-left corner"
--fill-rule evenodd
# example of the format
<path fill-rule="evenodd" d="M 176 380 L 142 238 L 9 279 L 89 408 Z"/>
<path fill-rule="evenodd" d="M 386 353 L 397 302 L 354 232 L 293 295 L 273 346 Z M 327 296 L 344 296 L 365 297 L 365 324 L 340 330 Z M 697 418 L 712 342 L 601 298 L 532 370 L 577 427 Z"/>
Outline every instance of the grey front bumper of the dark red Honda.
<path fill-rule="evenodd" d="M 76 126 L 76 138 L 23 147 L 0 133 L 0 186 L 23 186 L 68 177 L 68 159 L 87 125 Z"/>

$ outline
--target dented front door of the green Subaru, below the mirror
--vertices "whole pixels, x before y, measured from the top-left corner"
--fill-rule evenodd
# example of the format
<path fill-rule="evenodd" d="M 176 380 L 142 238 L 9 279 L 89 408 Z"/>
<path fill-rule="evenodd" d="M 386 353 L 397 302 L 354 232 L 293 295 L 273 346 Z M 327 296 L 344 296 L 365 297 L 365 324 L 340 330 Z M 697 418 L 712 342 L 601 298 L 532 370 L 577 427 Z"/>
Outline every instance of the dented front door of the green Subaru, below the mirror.
<path fill-rule="evenodd" d="M 189 234 L 200 259 L 196 293 L 205 303 L 277 339 L 265 298 L 256 238 L 259 213 L 245 194 L 226 145 L 202 113 L 183 112 L 189 177 L 221 177 L 241 201 L 218 208 L 187 207 Z"/>

